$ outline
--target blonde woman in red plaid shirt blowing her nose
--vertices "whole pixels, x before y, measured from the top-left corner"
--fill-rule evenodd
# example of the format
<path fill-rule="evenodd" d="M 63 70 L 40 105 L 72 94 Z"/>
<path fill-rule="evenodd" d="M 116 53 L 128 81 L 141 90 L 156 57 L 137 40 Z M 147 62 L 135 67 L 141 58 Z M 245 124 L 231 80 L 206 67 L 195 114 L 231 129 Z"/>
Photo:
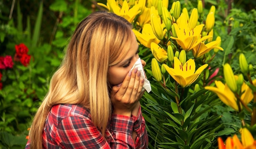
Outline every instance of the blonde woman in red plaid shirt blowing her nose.
<path fill-rule="evenodd" d="M 146 149 L 144 79 L 131 70 L 138 52 L 124 18 L 98 11 L 82 20 L 34 116 L 26 149 Z"/>

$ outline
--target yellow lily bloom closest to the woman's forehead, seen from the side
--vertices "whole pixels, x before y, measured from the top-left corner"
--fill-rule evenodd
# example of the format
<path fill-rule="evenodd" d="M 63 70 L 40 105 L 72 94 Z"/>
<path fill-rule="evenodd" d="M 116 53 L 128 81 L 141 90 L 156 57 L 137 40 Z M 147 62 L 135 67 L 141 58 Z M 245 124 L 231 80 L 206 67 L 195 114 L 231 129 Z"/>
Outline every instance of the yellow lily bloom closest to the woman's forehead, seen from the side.
<path fill-rule="evenodd" d="M 151 42 L 155 42 L 156 44 L 159 44 L 160 42 L 160 40 L 155 36 L 150 24 L 145 24 L 141 33 L 135 29 L 132 29 L 132 31 L 135 33 L 137 40 L 139 40 L 139 42 L 145 47 L 150 48 Z"/>

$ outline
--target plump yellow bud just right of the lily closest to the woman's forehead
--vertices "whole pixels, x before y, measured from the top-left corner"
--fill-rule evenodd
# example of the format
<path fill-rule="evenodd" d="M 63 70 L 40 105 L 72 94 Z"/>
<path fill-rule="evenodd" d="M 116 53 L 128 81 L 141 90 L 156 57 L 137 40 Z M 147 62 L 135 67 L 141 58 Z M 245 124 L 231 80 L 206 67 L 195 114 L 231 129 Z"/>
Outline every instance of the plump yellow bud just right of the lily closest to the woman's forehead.
<path fill-rule="evenodd" d="M 157 16 L 155 16 L 155 14 L 151 14 L 150 22 L 151 22 L 153 32 L 154 32 L 155 36 L 157 37 L 157 39 L 159 39 L 159 40 L 164 39 L 164 33 L 163 33 L 162 26 L 161 26 L 159 20 L 157 19 Z"/>

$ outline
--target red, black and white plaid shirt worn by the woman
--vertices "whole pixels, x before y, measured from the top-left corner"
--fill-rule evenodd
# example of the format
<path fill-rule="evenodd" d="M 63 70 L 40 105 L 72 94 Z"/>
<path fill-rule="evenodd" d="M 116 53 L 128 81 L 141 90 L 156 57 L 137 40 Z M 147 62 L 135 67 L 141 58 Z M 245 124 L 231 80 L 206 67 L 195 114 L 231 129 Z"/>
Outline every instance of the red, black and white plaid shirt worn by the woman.
<path fill-rule="evenodd" d="M 137 132 L 136 143 L 132 140 L 133 130 Z M 112 114 L 104 139 L 93 125 L 88 109 L 80 105 L 54 105 L 43 131 L 45 149 L 146 149 L 147 146 L 141 109 L 137 117 Z M 29 141 L 25 149 L 29 149 Z"/>

